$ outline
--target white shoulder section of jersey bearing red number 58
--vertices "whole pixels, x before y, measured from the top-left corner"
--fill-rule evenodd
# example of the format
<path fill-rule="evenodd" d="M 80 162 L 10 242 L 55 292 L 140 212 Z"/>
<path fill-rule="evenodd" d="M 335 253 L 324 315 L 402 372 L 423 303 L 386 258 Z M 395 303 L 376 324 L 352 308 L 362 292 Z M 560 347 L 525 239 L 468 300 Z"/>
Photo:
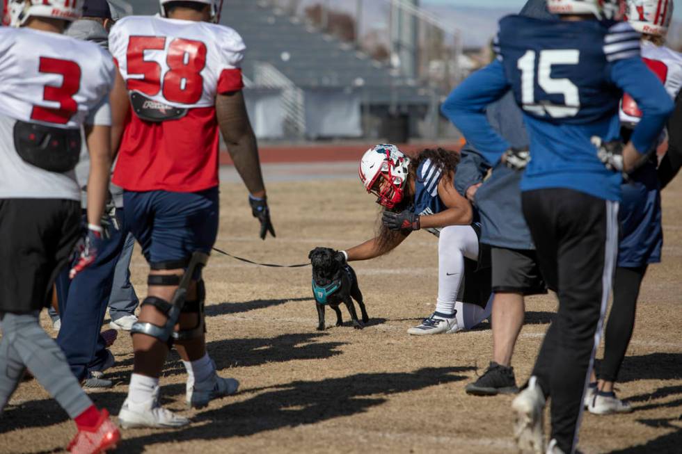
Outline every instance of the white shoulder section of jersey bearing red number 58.
<path fill-rule="evenodd" d="M 214 106 L 216 94 L 243 87 L 244 42 L 226 26 L 129 16 L 111 29 L 109 49 L 129 92 L 169 106 Z"/>

